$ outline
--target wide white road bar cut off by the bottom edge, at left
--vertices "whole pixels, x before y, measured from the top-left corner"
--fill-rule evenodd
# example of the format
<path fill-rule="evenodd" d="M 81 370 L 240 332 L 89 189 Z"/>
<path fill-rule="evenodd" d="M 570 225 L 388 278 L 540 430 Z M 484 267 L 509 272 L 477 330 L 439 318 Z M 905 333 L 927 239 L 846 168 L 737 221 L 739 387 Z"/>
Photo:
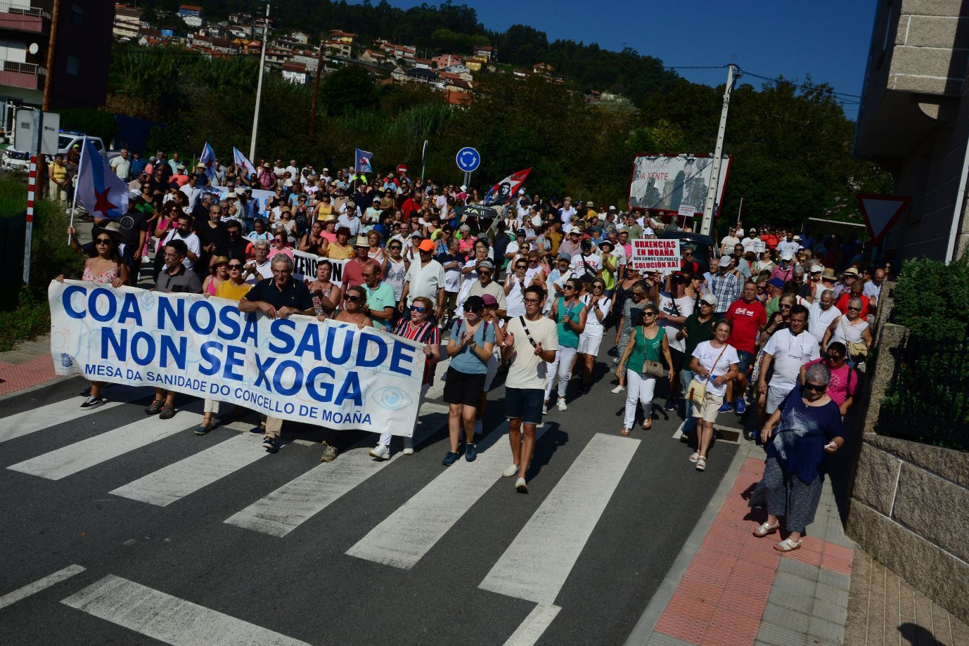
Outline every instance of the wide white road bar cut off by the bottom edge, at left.
<path fill-rule="evenodd" d="M 61 603 L 174 646 L 305 646 L 284 634 L 113 574 Z"/>

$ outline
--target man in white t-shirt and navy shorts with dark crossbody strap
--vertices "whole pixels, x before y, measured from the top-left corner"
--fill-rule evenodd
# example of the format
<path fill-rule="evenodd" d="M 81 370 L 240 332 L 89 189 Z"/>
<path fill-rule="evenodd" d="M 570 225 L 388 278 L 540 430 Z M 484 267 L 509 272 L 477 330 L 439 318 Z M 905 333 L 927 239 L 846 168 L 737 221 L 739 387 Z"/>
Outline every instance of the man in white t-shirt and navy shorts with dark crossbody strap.
<path fill-rule="evenodd" d="M 519 493 L 528 493 L 525 473 L 535 453 L 535 428 L 542 422 L 548 365 L 558 351 L 558 327 L 542 316 L 545 292 L 530 285 L 525 288 L 524 301 L 525 316 L 508 320 L 501 350 L 510 364 L 505 378 L 505 416 L 514 460 L 501 475 L 517 475 Z"/>

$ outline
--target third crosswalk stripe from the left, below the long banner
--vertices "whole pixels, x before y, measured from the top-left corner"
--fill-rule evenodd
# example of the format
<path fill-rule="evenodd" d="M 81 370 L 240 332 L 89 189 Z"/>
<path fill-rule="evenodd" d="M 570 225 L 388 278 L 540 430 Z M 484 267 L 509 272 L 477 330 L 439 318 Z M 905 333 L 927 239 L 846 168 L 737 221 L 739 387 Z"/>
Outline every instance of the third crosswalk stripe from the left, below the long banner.
<path fill-rule="evenodd" d="M 235 435 L 223 443 L 124 484 L 110 493 L 167 507 L 268 455 L 262 442 L 261 438 L 251 435 Z"/>

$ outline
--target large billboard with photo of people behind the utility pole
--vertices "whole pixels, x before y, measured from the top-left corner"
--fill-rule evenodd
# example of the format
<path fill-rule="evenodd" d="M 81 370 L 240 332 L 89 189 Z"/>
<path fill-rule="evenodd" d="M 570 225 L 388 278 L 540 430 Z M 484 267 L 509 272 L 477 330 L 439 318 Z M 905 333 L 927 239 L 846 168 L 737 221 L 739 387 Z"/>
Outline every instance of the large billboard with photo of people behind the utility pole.
<path fill-rule="evenodd" d="M 629 207 L 679 212 L 683 206 L 692 206 L 703 213 L 712 173 L 713 158 L 708 155 L 640 155 L 633 162 Z M 730 157 L 725 155 L 717 189 L 718 210 L 728 174 Z"/>

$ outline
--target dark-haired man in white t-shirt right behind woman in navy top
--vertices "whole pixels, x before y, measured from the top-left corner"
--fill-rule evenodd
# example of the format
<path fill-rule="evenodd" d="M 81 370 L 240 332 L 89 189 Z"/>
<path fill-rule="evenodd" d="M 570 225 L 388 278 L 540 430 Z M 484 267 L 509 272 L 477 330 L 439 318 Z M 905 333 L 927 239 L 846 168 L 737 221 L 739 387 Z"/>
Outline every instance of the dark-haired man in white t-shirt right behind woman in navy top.
<path fill-rule="evenodd" d="M 807 316 L 807 308 L 803 305 L 792 307 L 788 319 L 789 326 L 774 332 L 764 346 L 761 378 L 757 382 L 758 391 L 766 395 L 761 419 L 766 419 L 767 415 L 773 414 L 788 393 L 794 389 L 800 376 L 800 367 L 821 356 L 817 338 L 805 331 Z M 768 386 L 766 375 L 771 365 L 774 367 L 774 374 Z"/>

